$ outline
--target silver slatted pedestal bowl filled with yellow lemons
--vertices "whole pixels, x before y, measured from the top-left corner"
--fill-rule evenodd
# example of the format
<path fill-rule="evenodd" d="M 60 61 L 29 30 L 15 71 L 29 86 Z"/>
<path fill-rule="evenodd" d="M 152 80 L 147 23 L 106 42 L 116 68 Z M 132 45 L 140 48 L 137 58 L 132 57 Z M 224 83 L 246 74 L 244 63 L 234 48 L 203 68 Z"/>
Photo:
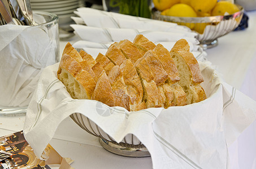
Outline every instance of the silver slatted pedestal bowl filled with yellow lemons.
<path fill-rule="evenodd" d="M 228 1 L 175 0 L 166 6 L 159 5 L 157 0 L 153 2 L 153 19 L 188 26 L 197 33 L 196 38 L 204 50 L 218 45 L 219 37 L 236 29 L 244 14 L 242 6 Z"/>

